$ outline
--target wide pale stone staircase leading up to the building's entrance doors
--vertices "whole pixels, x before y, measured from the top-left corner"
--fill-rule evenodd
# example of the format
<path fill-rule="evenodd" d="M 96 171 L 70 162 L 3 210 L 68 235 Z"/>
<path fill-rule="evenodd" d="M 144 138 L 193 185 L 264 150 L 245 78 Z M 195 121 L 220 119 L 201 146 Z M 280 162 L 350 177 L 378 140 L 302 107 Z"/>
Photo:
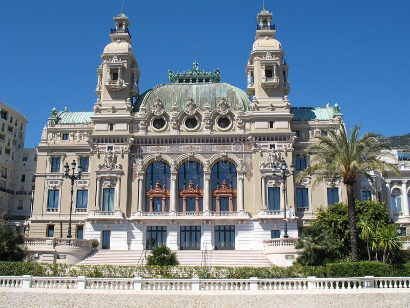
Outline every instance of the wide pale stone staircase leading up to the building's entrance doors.
<path fill-rule="evenodd" d="M 78 264 L 137 265 L 143 251 L 98 250 Z M 202 251 L 176 251 L 179 265 L 201 266 Z M 148 256 L 148 253 L 147 253 Z M 145 258 L 143 264 L 146 264 Z M 141 263 L 139 263 L 141 264 Z M 208 251 L 207 266 L 272 266 L 263 251 Z"/>

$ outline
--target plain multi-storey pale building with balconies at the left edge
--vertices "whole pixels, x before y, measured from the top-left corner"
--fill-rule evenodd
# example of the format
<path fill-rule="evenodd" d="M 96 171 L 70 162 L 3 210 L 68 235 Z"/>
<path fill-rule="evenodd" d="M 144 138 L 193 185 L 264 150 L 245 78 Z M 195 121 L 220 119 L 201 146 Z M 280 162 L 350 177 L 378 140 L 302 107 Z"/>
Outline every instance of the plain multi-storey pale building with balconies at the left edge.
<path fill-rule="evenodd" d="M 34 148 L 24 148 L 26 116 L 6 102 L 0 107 L 0 209 L 23 233 L 30 218 L 37 155 Z"/>

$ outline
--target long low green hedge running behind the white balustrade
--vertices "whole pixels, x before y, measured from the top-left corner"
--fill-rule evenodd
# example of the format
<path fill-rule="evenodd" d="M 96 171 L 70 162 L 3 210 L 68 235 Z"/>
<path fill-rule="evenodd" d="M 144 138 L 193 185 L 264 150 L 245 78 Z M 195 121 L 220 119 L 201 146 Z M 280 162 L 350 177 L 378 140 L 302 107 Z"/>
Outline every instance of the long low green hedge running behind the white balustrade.
<path fill-rule="evenodd" d="M 378 262 L 329 263 L 325 266 L 121 266 L 121 265 L 70 265 L 35 262 L 0 262 L 0 276 L 51 276 L 51 277 L 110 277 L 110 278 L 304 278 L 316 277 L 410 277 L 410 263 L 383 264 Z"/>

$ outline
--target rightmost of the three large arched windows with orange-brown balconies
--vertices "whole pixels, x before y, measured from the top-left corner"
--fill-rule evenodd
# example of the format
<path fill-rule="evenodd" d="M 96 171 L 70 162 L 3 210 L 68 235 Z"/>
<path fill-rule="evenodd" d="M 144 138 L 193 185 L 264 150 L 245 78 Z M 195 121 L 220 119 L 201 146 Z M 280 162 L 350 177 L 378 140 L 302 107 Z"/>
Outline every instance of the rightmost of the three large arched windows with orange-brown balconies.
<path fill-rule="evenodd" d="M 212 210 L 236 211 L 236 168 L 228 161 L 212 168 Z"/>

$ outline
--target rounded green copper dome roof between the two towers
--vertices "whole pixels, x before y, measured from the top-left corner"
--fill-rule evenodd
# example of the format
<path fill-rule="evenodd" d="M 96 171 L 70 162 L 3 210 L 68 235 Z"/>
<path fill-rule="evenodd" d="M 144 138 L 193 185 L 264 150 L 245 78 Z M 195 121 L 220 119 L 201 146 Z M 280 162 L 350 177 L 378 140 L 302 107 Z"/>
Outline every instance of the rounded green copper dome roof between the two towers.
<path fill-rule="evenodd" d="M 250 110 L 251 100 L 241 89 L 226 83 L 175 83 L 158 85 L 144 93 L 136 100 L 134 111 L 139 111 L 139 106 L 144 104 L 147 111 L 154 108 L 154 102 L 160 99 L 165 108 L 172 110 L 176 103 L 179 110 L 186 107 L 189 99 L 193 99 L 199 110 L 203 105 L 209 103 L 211 110 L 218 106 L 219 101 L 224 98 L 231 109 L 236 109 L 237 104 L 242 104 L 243 110 Z"/>

